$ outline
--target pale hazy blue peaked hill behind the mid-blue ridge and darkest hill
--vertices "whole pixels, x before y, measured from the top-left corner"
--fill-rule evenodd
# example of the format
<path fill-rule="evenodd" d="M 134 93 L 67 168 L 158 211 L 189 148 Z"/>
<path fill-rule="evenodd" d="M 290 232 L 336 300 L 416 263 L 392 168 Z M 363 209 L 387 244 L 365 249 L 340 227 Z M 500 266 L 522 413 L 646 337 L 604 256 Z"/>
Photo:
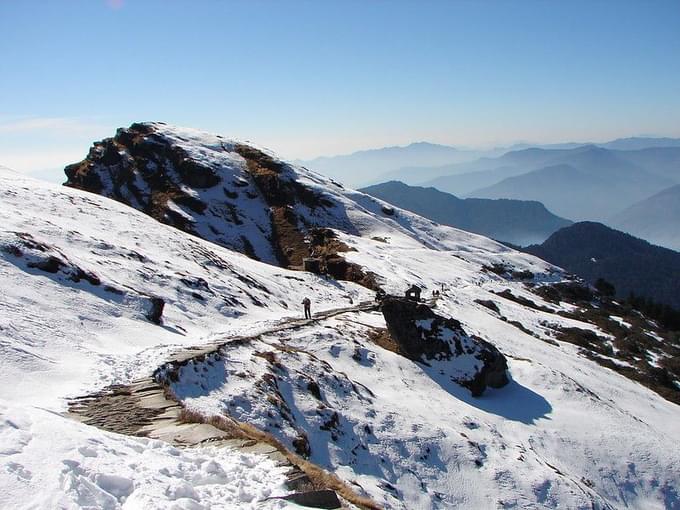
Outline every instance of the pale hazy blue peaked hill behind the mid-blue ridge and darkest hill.
<path fill-rule="evenodd" d="M 551 158 L 550 166 L 508 177 L 469 196 L 537 200 L 560 216 L 604 221 L 674 184 L 619 154 L 594 146 L 567 151 Z"/>

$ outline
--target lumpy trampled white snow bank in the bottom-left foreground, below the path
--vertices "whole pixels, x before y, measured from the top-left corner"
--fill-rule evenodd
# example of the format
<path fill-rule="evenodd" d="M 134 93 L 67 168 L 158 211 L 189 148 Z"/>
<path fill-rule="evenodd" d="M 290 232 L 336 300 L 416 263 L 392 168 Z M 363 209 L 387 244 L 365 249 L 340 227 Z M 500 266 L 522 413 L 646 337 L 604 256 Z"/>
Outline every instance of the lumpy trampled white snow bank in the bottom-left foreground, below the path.
<path fill-rule="evenodd" d="M 0 403 L 1 508 L 285 508 L 284 471 L 226 448 L 179 450 Z"/>

